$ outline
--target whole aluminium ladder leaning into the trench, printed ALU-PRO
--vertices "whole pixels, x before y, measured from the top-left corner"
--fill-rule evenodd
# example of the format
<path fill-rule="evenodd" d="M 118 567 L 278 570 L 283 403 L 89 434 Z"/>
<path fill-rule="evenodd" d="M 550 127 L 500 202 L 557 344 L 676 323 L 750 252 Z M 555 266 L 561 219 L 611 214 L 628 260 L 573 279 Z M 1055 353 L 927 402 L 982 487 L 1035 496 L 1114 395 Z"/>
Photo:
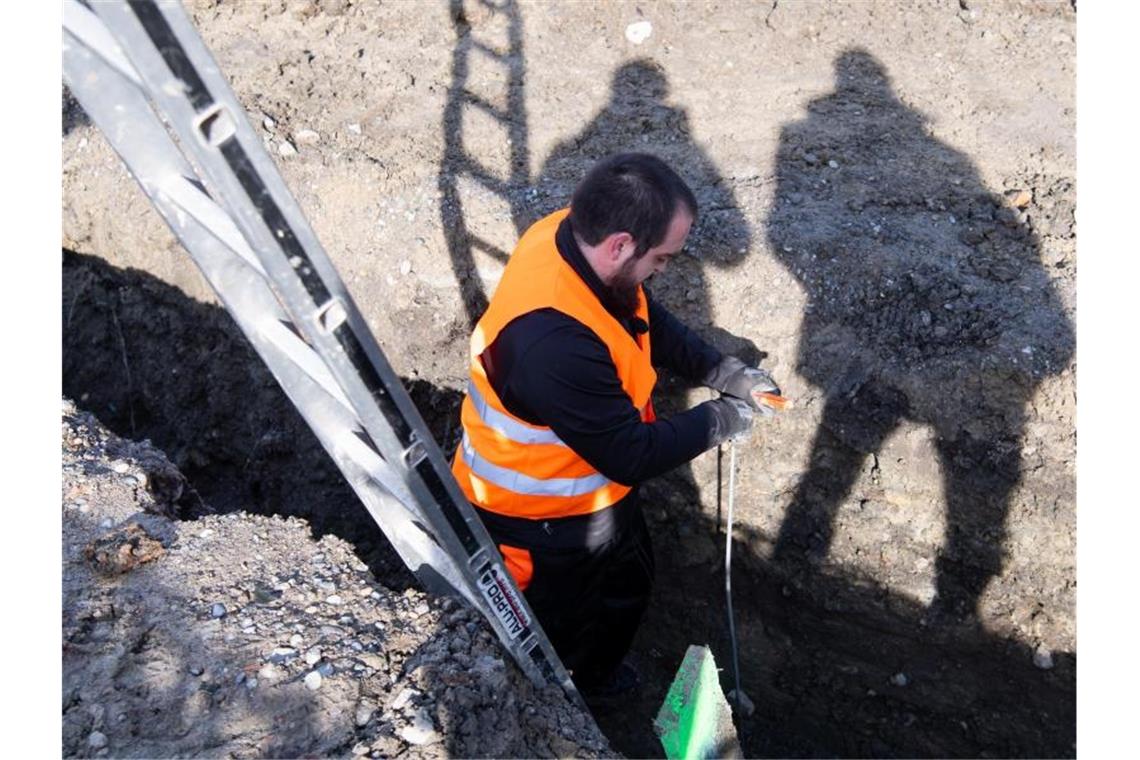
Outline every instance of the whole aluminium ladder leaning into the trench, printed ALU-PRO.
<path fill-rule="evenodd" d="M 64 0 L 64 79 L 408 567 L 584 705 L 181 5 Z"/>

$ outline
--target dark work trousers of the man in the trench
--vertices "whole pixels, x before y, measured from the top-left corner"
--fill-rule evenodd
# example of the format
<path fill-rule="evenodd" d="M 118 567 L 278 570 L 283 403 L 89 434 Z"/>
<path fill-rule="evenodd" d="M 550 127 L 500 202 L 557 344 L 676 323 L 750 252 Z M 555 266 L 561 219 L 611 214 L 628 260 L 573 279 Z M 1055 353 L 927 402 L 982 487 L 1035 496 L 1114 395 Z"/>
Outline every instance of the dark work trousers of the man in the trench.
<path fill-rule="evenodd" d="M 653 586 L 653 547 L 636 492 L 575 517 L 477 512 L 500 551 L 529 553 L 523 596 L 575 684 L 604 684 L 629 651 Z"/>

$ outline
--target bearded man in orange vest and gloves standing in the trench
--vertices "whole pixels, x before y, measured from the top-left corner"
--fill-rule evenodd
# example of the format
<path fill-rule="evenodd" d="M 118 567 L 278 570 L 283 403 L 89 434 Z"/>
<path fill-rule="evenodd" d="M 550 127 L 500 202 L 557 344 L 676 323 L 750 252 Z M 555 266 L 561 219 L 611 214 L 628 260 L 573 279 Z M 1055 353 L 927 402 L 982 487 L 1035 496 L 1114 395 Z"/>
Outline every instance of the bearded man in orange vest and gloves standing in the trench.
<path fill-rule="evenodd" d="M 638 685 L 624 662 L 653 582 L 637 484 L 748 433 L 772 377 L 656 303 L 697 219 L 662 161 L 598 162 L 570 209 L 519 240 L 471 338 L 453 472 L 587 698 Z M 723 395 L 658 418 L 653 367 Z"/>

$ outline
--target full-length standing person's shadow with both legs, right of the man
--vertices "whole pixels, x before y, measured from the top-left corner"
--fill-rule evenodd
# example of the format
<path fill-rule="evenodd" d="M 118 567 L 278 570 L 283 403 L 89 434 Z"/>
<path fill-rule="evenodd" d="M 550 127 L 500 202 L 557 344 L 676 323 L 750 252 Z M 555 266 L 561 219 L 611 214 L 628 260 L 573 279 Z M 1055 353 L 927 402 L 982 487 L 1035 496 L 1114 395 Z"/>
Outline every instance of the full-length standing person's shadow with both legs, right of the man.
<path fill-rule="evenodd" d="M 903 420 L 937 434 L 946 538 L 933 618 L 960 620 L 1003 563 L 1026 404 L 1073 358 L 1073 327 L 1017 205 L 930 136 L 882 65 L 836 60 L 834 91 L 788 124 L 767 219 L 806 294 L 797 370 L 824 397 L 775 547 L 819 561 L 866 457 Z"/>

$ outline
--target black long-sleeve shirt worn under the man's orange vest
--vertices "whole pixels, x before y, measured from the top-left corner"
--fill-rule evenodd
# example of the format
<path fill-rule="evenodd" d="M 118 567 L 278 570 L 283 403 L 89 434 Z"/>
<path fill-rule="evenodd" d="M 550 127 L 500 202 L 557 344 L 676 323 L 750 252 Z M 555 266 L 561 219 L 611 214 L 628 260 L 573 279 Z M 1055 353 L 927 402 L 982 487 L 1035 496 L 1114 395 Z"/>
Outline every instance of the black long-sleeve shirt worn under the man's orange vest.
<path fill-rule="evenodd" d="M 568 220 L 555 236 L 559 253 L 598 301 L 636 336 L 646 325 L 624 319 L 581 253 Z M 648 292 L 646 292 L 648 296 Z M 649 297 L 649 296 L 648 296 Z M 720 352 L 649 297 L 651 361 L 698 382 Z M 621 387 L 605 344 L 555 309 L 540 309 L 504 327 L 481 357 L 495 393 L 511 414 L 546 425 L 600 473 L 635 485 L 689 461 L 709 446 L 714 419 L 706 404 L 644 423 Z"/>

